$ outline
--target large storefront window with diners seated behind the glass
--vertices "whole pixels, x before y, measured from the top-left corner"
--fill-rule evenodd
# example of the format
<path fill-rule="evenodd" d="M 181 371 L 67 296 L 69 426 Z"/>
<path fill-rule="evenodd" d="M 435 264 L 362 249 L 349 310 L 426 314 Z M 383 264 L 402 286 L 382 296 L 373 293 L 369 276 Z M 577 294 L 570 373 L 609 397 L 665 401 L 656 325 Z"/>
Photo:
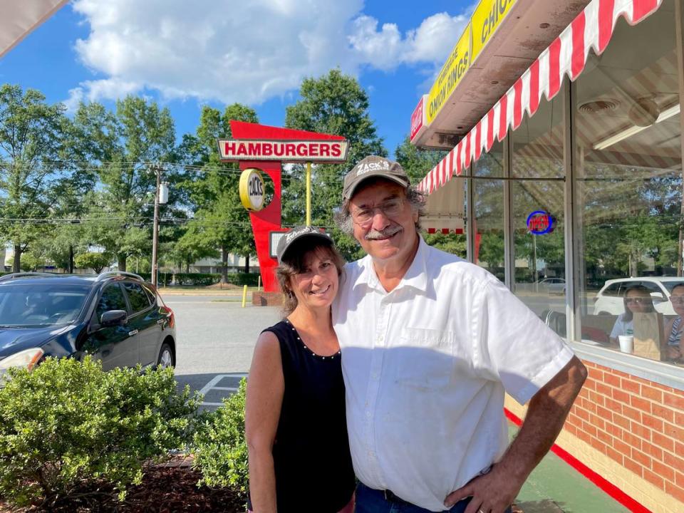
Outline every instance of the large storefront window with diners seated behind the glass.
<path fill-rule="evenodd" d="M 682 365 L 676 48 L 673 0 L 638 26 L 618 21 L 576 82 L 574 136 L 581 341 Z"/>

